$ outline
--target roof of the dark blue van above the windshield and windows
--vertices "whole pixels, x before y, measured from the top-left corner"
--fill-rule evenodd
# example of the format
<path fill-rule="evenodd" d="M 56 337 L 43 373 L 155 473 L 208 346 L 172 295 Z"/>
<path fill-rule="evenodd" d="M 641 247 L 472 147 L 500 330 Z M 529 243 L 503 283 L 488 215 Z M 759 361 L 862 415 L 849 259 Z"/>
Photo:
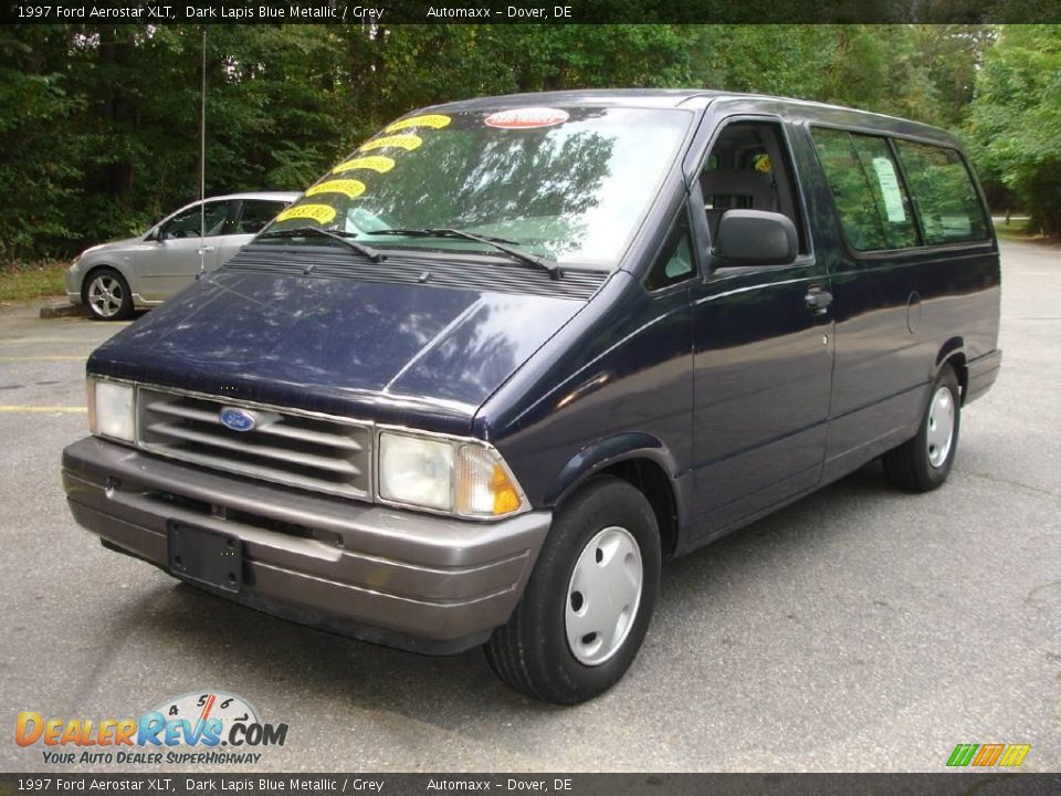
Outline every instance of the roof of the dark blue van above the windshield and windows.
<path fill-rule="evenodd" d="M 433 105 L 431 109 L 476 111 L 518 107 L 521 105 L 590 105 L 644 108 L 683 107 L 700 111 L 717 101 L 732 102 L 735 113 L 776 113 L 794 121 L 810 124 L 834 124 L 960 147 L 957 136 L 943 128 L 897 116 L 829 105 L 810 100 L 710 88 L 586 88 L 534 94 L 506 94 Z"/>

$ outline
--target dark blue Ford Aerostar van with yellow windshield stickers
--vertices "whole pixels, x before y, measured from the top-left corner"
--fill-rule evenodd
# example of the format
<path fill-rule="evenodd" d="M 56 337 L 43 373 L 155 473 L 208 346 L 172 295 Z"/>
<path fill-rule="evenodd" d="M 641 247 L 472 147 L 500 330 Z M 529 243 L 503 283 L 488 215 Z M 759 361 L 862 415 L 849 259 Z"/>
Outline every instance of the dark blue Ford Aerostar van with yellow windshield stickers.
<path fill-rule="evenodd" d="M 74 517 L 218 596 L 577 703 L 662 559 L 883 457 L 939 486 L 1001 354 L 954 136 L 815 103 L 417 111 L 88 360 Z"/>

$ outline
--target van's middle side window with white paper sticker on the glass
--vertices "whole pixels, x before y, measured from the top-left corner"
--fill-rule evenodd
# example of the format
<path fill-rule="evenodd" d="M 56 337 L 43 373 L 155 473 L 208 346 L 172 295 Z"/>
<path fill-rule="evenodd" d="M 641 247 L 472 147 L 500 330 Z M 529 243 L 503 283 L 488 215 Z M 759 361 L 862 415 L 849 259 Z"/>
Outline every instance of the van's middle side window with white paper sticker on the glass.
<path fill-rule="evenodd" d="M 876 251 L 917 245 L 910 197 L 887 140 L 821 128 L 812 137 L 851 247 Z"/>

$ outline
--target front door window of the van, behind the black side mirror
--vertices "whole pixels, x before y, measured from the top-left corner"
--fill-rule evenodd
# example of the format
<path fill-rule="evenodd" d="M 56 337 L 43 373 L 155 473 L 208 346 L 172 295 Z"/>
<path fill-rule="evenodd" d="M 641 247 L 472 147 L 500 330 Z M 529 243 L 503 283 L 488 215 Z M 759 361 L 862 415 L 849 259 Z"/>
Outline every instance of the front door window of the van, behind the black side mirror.
<path fill-rule="evenodd" d="M 726 210 L 766 210 L 791 219 L 799 230 L 799 251 L 807 251 L 791 159 L 779 124 L 728 124 L 704 163 L 700 187 L 712 239 Z"/>

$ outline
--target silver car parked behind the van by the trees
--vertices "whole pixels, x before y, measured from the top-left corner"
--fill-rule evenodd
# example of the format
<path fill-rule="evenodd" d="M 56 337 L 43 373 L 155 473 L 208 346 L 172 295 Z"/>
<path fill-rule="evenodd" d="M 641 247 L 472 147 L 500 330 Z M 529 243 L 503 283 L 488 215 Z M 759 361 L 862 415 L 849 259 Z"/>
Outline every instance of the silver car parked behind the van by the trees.
<path fill-rule="evenodd" d="M 191 284 L 200 269 L 223 265 L 298 196 L 232 193 L 187 205 L 139 238 L 83 251 L 66 269 L 66 296 L 103 321 L 161 304 Z"/>

